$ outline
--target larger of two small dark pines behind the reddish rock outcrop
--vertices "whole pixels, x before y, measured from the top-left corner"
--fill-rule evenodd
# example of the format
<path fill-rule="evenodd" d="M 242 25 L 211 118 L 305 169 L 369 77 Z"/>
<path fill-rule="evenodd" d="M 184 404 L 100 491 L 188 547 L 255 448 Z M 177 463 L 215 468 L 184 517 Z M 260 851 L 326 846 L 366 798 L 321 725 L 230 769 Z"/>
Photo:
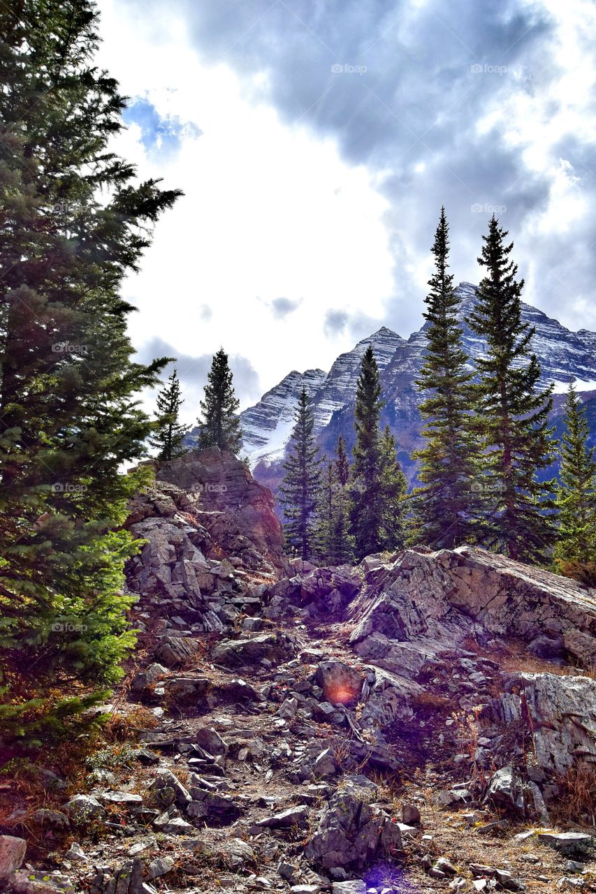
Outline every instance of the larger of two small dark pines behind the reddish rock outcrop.
<path fill-rule="evenodd" d="M 205 399 L 200 401 L 199 447 L 219 447 L 237 454 L 243 441 L 240 402 L 234 394 L 233 375 L 223 348 L 214 354 L 207 379 Z"/>

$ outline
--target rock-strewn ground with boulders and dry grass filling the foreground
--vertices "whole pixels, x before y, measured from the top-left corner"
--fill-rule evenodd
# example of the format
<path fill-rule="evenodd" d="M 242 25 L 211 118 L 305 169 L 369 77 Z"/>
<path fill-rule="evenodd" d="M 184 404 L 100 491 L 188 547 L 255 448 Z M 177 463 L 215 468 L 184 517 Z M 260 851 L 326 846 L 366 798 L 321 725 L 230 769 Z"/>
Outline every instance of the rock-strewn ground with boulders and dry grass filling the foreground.
<path fill-rule="evenodd" d="M 112 738 L 2 777 L 6 890 L 596 891 L 596 592 L 469 547 L 288 561 L 218 451 L 129 526 Z"/>

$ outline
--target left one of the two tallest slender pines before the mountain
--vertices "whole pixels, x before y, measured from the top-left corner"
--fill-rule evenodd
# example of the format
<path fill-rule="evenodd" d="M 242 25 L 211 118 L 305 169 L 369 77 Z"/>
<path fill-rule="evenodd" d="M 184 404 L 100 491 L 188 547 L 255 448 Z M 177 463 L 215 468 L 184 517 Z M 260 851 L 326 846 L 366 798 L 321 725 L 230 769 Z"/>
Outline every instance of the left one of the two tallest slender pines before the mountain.
<path fill-rule="evenodd" d="M 428 324 L 424 330 L 427 350 L 416 380 L 425 394 L 419 409 L 425 422 L 422 435 L 426 444 L 413 453 L 414 459 L 420 460 L 421 487 L 411 496 L 410 539 L 415 544 L 452 549 L 474 539 L 477 501 L 472 485 L 478 451 L 470 415 L 473 375 L 465 368 L 467 355 L 458 322 L 460 302 L 454 292 L 453 274 L 447 272 L 449 227 L 444 207 L 430 250 L 435 273 L 429 280 L 423 315 Z"/>

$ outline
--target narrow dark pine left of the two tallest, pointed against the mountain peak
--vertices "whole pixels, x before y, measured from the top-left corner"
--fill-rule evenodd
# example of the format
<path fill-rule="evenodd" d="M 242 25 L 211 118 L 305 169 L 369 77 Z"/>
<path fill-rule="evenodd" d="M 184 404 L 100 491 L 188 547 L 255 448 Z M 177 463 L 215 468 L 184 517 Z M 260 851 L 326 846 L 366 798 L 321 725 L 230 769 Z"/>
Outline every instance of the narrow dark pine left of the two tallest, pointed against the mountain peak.
<path fill-rule="evenodd" d="M 356 443 L 353 447 L 351 517 L 359 560 L 371 552 L 386 548 L 382 534 L 382 450 L 379 436 L 383 406 L 379 367 L 369 345 L 362 357 L 354 410 Z"/>

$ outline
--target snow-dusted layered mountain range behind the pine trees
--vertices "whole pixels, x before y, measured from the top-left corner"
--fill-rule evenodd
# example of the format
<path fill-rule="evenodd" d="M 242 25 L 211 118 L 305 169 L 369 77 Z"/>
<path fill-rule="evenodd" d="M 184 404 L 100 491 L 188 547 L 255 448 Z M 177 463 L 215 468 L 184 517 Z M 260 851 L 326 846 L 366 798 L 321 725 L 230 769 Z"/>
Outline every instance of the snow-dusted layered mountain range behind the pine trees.
<path fill-rule="evenodd" d="M 464 348 L 471 358 L 486 350 L 485 343 L 464 322 L 473 309 L 476 287 L 460 283 L 456 294 L 462 302 Z M 554 382 L 556 392 L 566 391 L 575 380 L 579 391 L 596 388 L 596 333 L 582 329 L 571 332 L 565 326 L 529 304 L 522 305 L 524 322 L 535 326 L 533 350 L 542 368 L 544 384 Z M 243 455 L 247 455 L 255 475 L 269 485 L 279 477 L 280 460 L 293 426 L 293 414 L 306 387 L 315 414 L 315 430 L 321 447 L 332 452 L 337 436 L 342 434 L 348 446 L 353 444 L 354 393 L 362 355 L 372 346 L 379 364 L 386 406 L 382 424 L 389 425 L 396 436 L 399 458 L 404 471 L 413 476 L 411 451 L 421 443 L 421 420 L 418 404 L 420 392 L 415 379 L 420 372 L 426 350 L 424 329 L 406 340 L 383 326 L 362 342 L 341 354 L 326 374 L 320 369 L 305 373 L 292 372 L 275 388 L 264 394 L 259 403 L 241 414 L 244 432 Z M 587 397 L 587 395 L 586 395 Z M 590 395 L 593 400 L 594 396 Z M 558 401 L 560 403 L 560 401 Z"/>

